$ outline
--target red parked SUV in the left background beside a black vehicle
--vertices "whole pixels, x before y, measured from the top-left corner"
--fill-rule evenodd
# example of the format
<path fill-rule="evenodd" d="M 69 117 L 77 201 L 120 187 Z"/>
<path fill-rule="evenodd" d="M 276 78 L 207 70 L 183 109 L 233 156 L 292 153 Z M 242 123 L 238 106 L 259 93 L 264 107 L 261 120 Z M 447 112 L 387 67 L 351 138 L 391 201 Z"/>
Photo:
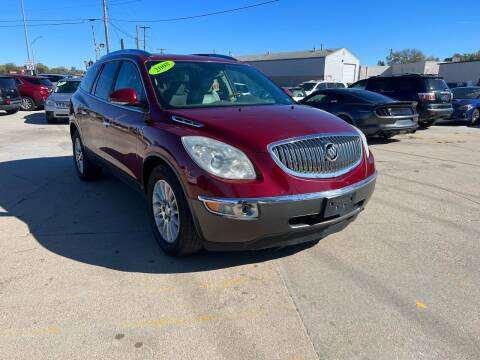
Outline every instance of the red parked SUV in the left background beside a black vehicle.
<path fill-rule="evenodd" d="M 12 74 L 11 76 L 15 79 L 17 89 L 22 97 L 20 106 L 22 110 L 32 111 L 45 104 L 53 89 L 50 80 L 38 76 L 20 74 Z"/>

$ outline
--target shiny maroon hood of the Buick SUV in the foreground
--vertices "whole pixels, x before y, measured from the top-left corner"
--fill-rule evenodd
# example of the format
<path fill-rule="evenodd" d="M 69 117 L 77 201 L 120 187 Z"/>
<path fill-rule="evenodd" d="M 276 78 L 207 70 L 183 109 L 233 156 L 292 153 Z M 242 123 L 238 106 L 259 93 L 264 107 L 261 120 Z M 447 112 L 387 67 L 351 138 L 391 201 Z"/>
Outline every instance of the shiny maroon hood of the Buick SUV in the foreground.
<path fill-rule="evenodd" d="M 215 107 L 169 112 L 203 124 L 199 130 L 202 134 L 198 135 L 214 137 L 247 152 L 266 152 L 270 143 L 293 137 L 355 133 L 345 121 L 305 105 Z"/>

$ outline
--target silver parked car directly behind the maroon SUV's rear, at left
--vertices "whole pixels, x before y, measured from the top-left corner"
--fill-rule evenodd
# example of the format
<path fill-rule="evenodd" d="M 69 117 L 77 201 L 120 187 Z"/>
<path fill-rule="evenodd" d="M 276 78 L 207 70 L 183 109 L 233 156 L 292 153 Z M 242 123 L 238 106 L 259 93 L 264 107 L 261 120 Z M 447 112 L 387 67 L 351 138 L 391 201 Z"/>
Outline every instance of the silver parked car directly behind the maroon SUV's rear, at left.
<path fill-rule="evenodd" d="M 70 98 L 80 85 L 80 78 L 67 78 L 57 82 L 57 86 L 45 102 L 45 116 L 49 124 L 57 119 L 68 119 Z"/>

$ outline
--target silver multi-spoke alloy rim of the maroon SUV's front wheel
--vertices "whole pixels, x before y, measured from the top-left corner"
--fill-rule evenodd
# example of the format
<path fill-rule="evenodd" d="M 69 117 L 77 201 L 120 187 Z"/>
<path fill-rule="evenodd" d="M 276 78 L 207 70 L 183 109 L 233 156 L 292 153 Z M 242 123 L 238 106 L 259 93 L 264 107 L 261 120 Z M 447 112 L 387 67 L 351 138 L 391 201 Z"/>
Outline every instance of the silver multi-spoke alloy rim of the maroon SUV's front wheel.
<path fill-rule="evenodd" d="M 165 180 L 156 182 L 152 193 L 152 210 L 162 238 L 173 244 L 180 231 L 178 203 L 171 186 Z"/>

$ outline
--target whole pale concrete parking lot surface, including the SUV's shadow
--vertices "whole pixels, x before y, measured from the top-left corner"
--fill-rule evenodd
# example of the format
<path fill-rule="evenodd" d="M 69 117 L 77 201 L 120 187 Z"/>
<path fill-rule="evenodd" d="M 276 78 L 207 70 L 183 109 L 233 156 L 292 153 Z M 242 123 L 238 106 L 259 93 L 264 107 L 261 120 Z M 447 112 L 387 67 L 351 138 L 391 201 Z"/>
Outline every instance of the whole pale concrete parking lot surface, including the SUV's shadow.
<path fill-rule="evenodd" d="M 376 141 L 366 211 L 315 246 L 174 259 L 65 124 L 0 115 L 0 359 L 479 359 L 479 137 Z"/>

